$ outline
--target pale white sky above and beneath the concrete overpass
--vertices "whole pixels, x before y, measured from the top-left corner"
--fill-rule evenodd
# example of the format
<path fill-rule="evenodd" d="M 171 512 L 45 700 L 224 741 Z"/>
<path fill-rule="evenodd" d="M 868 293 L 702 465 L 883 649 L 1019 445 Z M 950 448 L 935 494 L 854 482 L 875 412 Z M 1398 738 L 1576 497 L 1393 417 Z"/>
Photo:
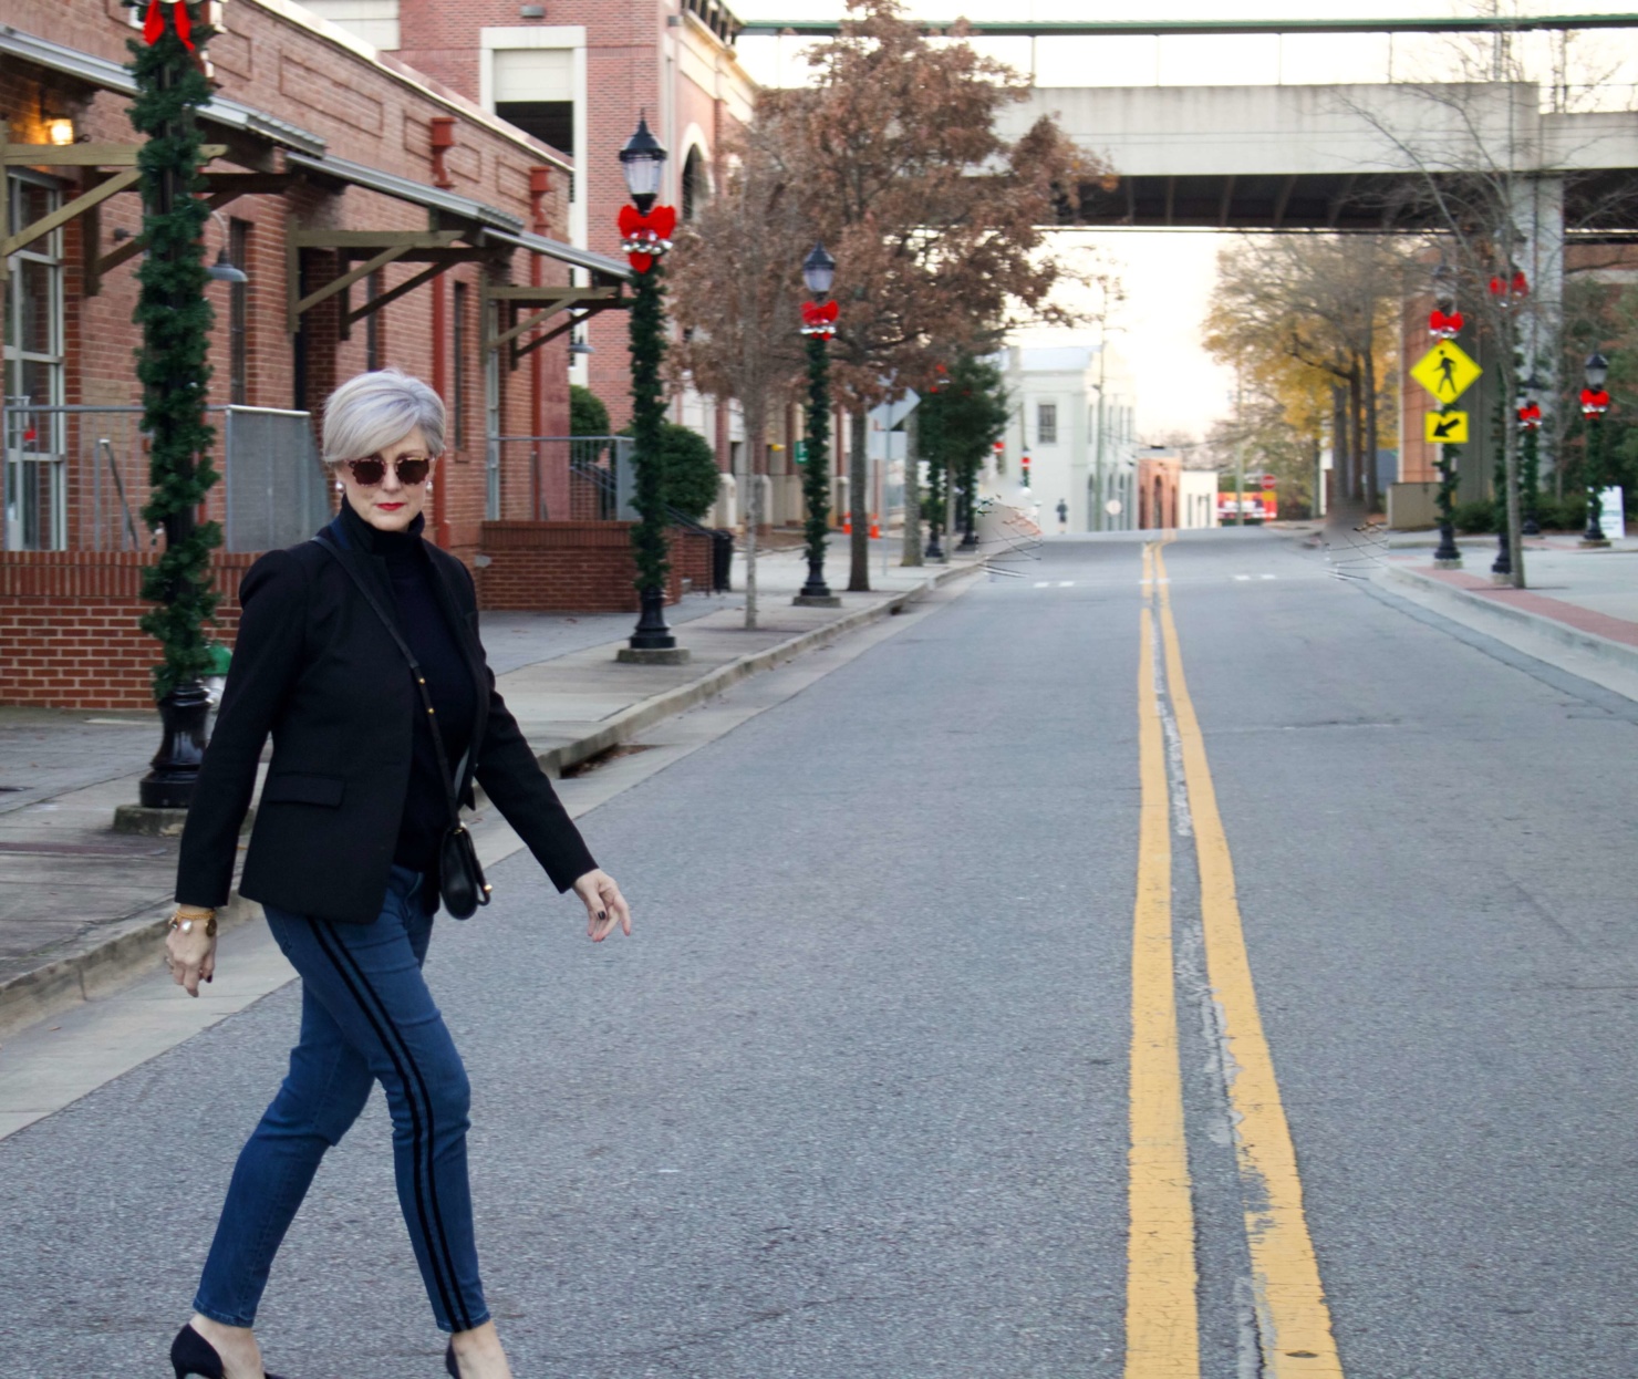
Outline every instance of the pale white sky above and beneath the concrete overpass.
<path fill-rule="evenodd" d="M 729 0 L 747 23 L 776 20 L 840 18 L 840 0 Z M 1230 0 L 1148 0 L 1145 20 L 1222 18 Z M 988 20 L 1130 20 L 1130 0 L 911 0 L 912 18 L 950 21 L 965 16 Z M 1423 18 L 1492 13 L 1484 0 L 1232 0 L 1238 20 L 1278 18 Z M 1504 0 L 1514 15 L 1617 15 L 1631 13 L 1620 0 Z M 739 39 L 740 62 L 763 85 L 798 85 L 804 80 L 803 47 L 811 39 Z M 1382 82 L 1432 80 L 1455 62 L 1451 39 L 1438 34 L 1386 36 L 1245 36 L 1245 38 L 1055 38 L 978 39 L 981 47 L 1035 85 L 1219 85 L 1273 82 Z M 1523 61 L 1546 70 L 1553 59 L 1548 36 L 1525 41 Z M 1581 36 L 1569 54 L 1569 80 L 1597 90 L 1582 100 L 1622 110 L 1638 108 L 1638 29 L 1604 29 Z M 1232 74 L 1232 75 L 1228 75 Z M 1101 262 L 1112 267 L 1125 287 L 1125 300 L 1111 316 L 1117 328 L 1111 349 L 1125 355 L 1137 377 L 1137 424 L 1145 439 L 1188 431 L 1204 436 L 1214 419 L 1228 413 L 1233 378 L 1201 347 L 1202 318 L 1215 280 L 1217 254 L 1235 244 L 1233 234 L 1201 231 L 1071 231 L 1050 236 L 1066 262 Z M 1097 292 L 1065 293 L 1070 303 L 1094 310 Z M 1097 328 L 1065 337 L 1030 331 L 1027 344 L 1096 344 Z"/>

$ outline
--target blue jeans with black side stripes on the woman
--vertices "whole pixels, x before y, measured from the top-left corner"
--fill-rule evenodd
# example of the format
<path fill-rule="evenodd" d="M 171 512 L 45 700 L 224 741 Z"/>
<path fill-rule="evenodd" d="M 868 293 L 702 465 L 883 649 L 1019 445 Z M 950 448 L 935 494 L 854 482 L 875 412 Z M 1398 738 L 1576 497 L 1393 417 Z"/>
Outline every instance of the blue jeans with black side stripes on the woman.
<path fill-rule="evenodd" d="M 319 1160 L 359 1119 L 378 1081 L 393 1117 L 398 1205 L 446 1332 L 488 1320 L 467 1186 L 470 1087 L 421 963 L 432 916 L 421 873 L 393 866 L 373 924 L 331 924 L 267 907 L 267 927 L 301 974 L 301 1038 L 290 1074 L 239 1151 L 197 1312 L 249 1327 Z"/>

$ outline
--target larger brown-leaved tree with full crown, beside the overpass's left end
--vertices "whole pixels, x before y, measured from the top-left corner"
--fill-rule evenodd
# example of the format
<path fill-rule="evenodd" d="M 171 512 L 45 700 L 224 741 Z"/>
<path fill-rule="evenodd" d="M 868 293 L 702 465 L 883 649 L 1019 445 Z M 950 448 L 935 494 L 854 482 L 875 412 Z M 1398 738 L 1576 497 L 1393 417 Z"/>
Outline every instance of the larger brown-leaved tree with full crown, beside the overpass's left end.
<path fill-rule="evenodd" d="M 1061 269 L 1042 247 L 1097 169 L 1050 120 L 1016 142 L 996 133 L 998 111 L 1025 93 L 1011 69 L 930 41 L 896 0 L 848 0 L 847 15 L 809 52 L 814 85 L 763 93 L 758 123 L 776 126 L 799 175 L 808 237 L 837 260 L 848 590 L 868 590 L 865 413 L 929 383 L 940 359 L 991 349 L 1007 324 L 1070 324 L 1048 300 Z"/>

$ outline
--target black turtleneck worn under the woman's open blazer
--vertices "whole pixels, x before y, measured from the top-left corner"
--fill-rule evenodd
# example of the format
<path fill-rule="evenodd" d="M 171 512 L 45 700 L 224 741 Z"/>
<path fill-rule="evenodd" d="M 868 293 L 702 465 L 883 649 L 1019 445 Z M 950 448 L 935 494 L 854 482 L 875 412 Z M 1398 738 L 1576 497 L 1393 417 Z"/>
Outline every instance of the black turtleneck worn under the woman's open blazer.
<path fill-rule="evenodd" d="M 355 547 L 387 562 L 393 603 L 398 609 L 398 627 L 426 675 L 426 688 L 432 696 L 449 770 L 459 771 L 460 760 L 472 740 L 472 724 L 478 709 L 477 685 L 472 678 L 472 667 L 460 650 L 455 629 L 449 626 L 432 586 L 437 575 L 421 540 L 426 518 L 416 516 L 406 531 L 383 532 L 365 522 L 342 501 L 341 521 L 347 529 L 347 539 Z M 405 667 L 405 675 L 408 673 L 410 668 Z M 398 825 L 393 861 L 411 871 L 436 871 L 437 843 L 449 827 L 449 796 L 439 781 L 432 727 L 424 712 L 418 711 L 414 721 L 410 789 L 405 798 L 403 822 Z M 434 897 L 428 896 L 428 899 Z"/>

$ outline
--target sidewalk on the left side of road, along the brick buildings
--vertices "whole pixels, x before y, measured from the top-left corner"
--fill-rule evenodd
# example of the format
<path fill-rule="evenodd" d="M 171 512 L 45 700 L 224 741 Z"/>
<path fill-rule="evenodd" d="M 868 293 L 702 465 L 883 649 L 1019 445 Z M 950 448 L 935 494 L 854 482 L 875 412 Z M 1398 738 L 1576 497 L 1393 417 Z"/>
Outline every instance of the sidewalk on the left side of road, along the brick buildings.
<path fill-rule="evenodd" d="M 806 560 L 799 550 L 762 554 L 755 631 L 744 626 L 745 568 L 735 555 L 734 593 L 688 595 L 667 609 L 678 644 L 691 652 L 688 665 L 618 663 L 614 650 L 636 614 L 495 613 L 483 617 L 483 644 L 542 768 L 559 776 L 737 680 L 978 568 L 962 557 L 906 570 L 898 550 L 896 536 L 871 542 L 871 593 L 842 593 L 842 608 L 793 608 Z M 847 583 L 845 539 L 832 540 L 826 575 L 832 590 Z M 111 829 L 115 807 L 136 801 L 157 745 L 154 714 L 0 708 L 0 1037 L 118 988 L 159 960 L 177 840 Z M 257 914 L 236 896 L 223 922 Z"/>

